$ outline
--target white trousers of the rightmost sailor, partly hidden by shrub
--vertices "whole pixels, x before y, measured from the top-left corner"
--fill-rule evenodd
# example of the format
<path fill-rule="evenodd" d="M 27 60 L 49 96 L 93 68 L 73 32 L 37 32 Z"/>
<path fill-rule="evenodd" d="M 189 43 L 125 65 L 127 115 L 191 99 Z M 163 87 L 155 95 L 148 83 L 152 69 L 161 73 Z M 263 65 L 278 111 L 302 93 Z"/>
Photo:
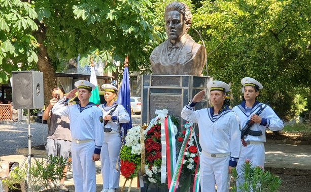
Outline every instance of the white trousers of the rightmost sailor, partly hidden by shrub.
<path fill-rule="evenodd" d="M 241 191 L 238 189 L 238 186 L 244 183 L 243 176 L 243 163 L 245 160 L 250 160 L 252 162 L 252 166 L 261 166 L 264 167 L 265 153 L 264 153 L 264 143 L 255 143 L 247 145 L 246 147 L 242 146 L 240 157 L 237 162 L 236 170 L 238 173 L 238 180 L 236 181 L 237 191 Z"/>

